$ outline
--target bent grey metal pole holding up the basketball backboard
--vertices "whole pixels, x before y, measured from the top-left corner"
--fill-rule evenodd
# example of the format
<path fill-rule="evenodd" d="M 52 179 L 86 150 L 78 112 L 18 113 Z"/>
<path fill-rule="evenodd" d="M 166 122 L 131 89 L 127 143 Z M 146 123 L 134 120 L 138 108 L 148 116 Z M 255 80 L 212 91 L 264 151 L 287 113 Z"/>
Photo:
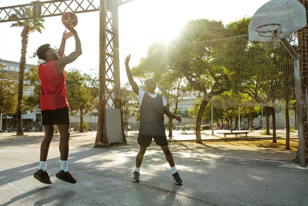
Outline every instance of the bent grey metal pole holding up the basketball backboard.
<path fill-rule="evenodd" d="M 281 38 L 280 40 L 294 59 L 295 98 L 296 98 L 296 110 L 297 110 L 297 120 L 298 120 L 299 161 L 301 167 L 306 167 L 300 56 L 296 53 L 296 51 L 286 38 Z"/>

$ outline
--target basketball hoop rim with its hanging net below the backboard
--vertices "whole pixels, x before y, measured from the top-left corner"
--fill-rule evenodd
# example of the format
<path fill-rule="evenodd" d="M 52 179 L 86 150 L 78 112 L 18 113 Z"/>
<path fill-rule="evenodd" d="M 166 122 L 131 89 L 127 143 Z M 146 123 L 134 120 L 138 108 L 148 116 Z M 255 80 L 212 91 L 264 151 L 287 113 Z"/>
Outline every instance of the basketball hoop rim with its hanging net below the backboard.
<path fill-rule="evenodd" d="M 262 48 L 278 48 L 280 46 L 280 24 L 265 24 L 257 27 L 255 31 L 260 35 L 260 46 Z"/>

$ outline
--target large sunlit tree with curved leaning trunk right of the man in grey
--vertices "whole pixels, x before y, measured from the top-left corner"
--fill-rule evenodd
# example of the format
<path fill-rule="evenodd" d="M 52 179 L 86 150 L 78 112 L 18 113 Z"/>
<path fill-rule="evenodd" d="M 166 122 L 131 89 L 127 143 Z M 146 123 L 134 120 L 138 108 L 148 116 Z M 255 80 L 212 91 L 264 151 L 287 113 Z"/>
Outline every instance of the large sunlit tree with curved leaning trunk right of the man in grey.
<path fill-rule="evenodd" d="M 222 22 L 198 19 L 188 22 L 173 46 L 170 67 L 178 70 L 189 83 L 190 91 L 200 96 L 211 97 L 228 90 L 227 73 L 222 68 L 212 67 L 213 46 L 204 45 L 202 41 L 225 37 L 226 30 Z M 216 74 L 220 75 L 216 75 Z M 201 122 L 209 100 L 204 98 L 200 104 L 196 121 L 196 142 L 201 140 Z"/>

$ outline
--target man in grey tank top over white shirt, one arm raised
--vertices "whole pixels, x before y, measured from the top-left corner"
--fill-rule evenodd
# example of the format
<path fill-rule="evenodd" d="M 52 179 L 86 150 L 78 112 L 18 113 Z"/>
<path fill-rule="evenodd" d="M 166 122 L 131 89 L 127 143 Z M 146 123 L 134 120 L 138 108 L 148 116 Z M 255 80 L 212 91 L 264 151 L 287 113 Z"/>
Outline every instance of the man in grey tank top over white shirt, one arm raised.
<path fill-rule="evenodd" d="M 140 166 L 146 153 L 147 148 L 152 142 L 152 138 L 157 145 L 163 150 L 165 157 L 171 167 L 171 172 L 176 184 L 182 184 L 182 179 L 176 170 L 172 153 L 168 147 L 168 141 L 166 137 L 164 127 L 164 114 L 170 118 L 175 118 L 181 122 L 181 117 L 171 113 L 167 107 L 166 100 L 163 96 L 155 93 L 156 82 L 154 79 L 148 79 L 146 82 L 147 92 L 139 88 L 137 83 L 130 72 L 128 63 L 130 55 L 125 58 L 126 73 L 128 81 L 140 102 L 140 129 L 138 135 L 138 144 L 140 145 L 139 152 L 136 156 L 136 168 L 133 172 L 131 180 L 133 182 L 139 182 L 140 177 Z"/>

